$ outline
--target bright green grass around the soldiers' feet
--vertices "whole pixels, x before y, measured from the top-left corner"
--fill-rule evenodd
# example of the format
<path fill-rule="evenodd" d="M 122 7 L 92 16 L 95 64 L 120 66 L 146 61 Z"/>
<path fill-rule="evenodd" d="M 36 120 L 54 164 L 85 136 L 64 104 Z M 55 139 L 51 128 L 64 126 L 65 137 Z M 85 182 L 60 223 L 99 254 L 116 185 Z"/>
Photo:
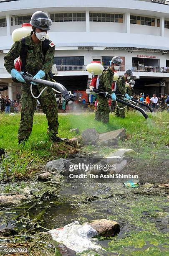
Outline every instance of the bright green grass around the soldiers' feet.
<path fill-rule="evenodd" d="M 126 128 L 127 140 L 119 142 L 121 147 L 133 148 L 138 152 L 142 151 L 147 156 L 147 152 L 150 150 L 152 155 L 153 151 L 158 151 L 160 148 L 163 150 L 165 146 L 169 146 L 169 113 L 157 113 L 150 116 L 148 120 L 134 111 L 127 113 L 125 119 L 115 118 L 114 115 L 110 114 L 108 125 L 96 122 L 93 118 L 94 113 L 59 114 L 58 135 L 62 138 L 73 138 L 76 134 L 70 131 L 72 128 L 79 128 L 80 133 L 86 128 L 96 128 L 99 133 Z M 34 115 L 33 131 L 30 138 L 25 146 L 18 147 L 19 121 L 20 114 L 15 114 L 15 116 L 0 114 L 0 148 L 5 148 L 9 156 L 2 161 L 3 170 L 7 176 L 20 174 L 18 177 L 22 177 L 28 174 L 28 166 L 45 164 L 47 161 L 59 157 L 50 150 L 52 143 L 48 140 L 46 133 L 45 115 Z M 65 145 L 61 145 L 61 147 L 65 147 Z M 91 149 L 93 149 L 92 146 L 84 148 L 87 151 Z M 111 148 L 109 150 L 111 151 Z M 103 152 L 108 151 L 103 148 Z"/>

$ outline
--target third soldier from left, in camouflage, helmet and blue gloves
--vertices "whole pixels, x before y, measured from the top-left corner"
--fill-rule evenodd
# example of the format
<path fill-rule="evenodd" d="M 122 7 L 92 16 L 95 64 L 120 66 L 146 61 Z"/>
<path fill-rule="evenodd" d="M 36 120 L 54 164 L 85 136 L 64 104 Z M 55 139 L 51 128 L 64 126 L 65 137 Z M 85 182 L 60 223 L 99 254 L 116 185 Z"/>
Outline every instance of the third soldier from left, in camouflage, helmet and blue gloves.
<path fill-rule="evenodd" d="M 124 73 L 124 76 L 119 78 L 116 82 L 116 92 L 119 92 L 121 95 L 118 95 L 120 100 L 123 100 L 124 95 L 128 100 L 131 100 L 130 96 L 126 93 L 126 79 L 130 80 L 133 73 L 130 69 L 127 69 Z M 125 118 L 125 105 L 123 103 L 117 102 L 115 116 L 120 118 Z"/>

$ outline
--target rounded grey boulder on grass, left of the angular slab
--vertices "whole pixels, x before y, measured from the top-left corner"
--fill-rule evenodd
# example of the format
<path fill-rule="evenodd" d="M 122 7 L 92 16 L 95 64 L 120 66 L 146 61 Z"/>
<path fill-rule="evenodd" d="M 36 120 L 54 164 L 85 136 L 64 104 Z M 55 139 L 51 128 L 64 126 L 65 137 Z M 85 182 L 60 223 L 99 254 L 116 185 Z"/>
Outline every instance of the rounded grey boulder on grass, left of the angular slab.
<path fill-rule="evenodd" d="M 99 138 L 99 133 L 95 128 L 89 128 L 82 133 L 82 142 L 84 145 L 94 145 Z"/>

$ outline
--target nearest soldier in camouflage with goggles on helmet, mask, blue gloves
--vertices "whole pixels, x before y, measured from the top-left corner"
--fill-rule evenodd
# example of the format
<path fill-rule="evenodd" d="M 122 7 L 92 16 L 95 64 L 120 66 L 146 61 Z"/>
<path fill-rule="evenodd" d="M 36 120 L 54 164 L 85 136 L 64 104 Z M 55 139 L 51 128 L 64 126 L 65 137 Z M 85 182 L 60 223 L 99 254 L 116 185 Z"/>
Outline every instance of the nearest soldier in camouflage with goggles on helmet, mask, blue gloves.
<path fill-rule="evenodd" d="M 28 46 L 25 71 L 33 75 L 33 78 L 45 79 L 45 75 L 50 72 L 54 53 L 55 44 L 48 40 L 49 48 L 46 51 L 45 57 L 42 52 L 42 41 L 46 37 L 47 31 L 50 29 L 52 21 L 43 12 L 36 12 L 32 15 L 30 24 L 32 25 L 33 31 L 29 36 L 25 37 L 25 45 Z M 25 82 L 23 77 L 14 67 L 14 60 L 20 55 L 22 42 L 21 40 L 15 41 L 8 54 L 4 57 L 5 68 L 15 77 L 21 84 L 21 119 L 18 130 L 18 143 L 21 143 L 29 138 L 33 126 L 33 115 L 36 108 L 37 100 L 33 98 L 30 92 L 30 83 Z M 50 80 L 48 76 L 48 80 Z M 33 94 L 38 96 L 43 90 L 43 85 L 33 84 Z M 53 141 L 60 141 L 56 134 L 58 133 L 58 105 L 56 103 L 55 95 L 51 88 L 47 88 L 42 95 L 38 98 L 40 105 L 42 106 L 43 112 L 46 114 L 48 120 L 48 131 L 50 132 Z"/>

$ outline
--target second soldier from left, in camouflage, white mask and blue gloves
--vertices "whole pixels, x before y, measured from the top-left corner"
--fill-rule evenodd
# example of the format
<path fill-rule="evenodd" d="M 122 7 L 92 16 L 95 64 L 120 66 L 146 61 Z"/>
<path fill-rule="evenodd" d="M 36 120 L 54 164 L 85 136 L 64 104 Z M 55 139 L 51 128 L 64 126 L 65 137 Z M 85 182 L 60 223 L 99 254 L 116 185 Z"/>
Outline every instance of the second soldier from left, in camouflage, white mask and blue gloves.
<path fill-rule="evenodd" d="M 100 82 L 98 85 L 98 90 L 102 92 L 108 92 L 111 94 L 111 99 L 116 100 L 116 95 L 113 93 L 112 84 L 114 82 L 114 70 L 119 70 L 122 60 L 119 57 L 114 57 L 111 61 L 111 66 L 108 69 L 103 70 Z M 108 106 L 108 98 L 105 96 L 98 96 L 98 105 L 95 112 L 95 120 L 101 121 L 102 123 L 108 123 L 109 121 L 110 108 Z"/>

